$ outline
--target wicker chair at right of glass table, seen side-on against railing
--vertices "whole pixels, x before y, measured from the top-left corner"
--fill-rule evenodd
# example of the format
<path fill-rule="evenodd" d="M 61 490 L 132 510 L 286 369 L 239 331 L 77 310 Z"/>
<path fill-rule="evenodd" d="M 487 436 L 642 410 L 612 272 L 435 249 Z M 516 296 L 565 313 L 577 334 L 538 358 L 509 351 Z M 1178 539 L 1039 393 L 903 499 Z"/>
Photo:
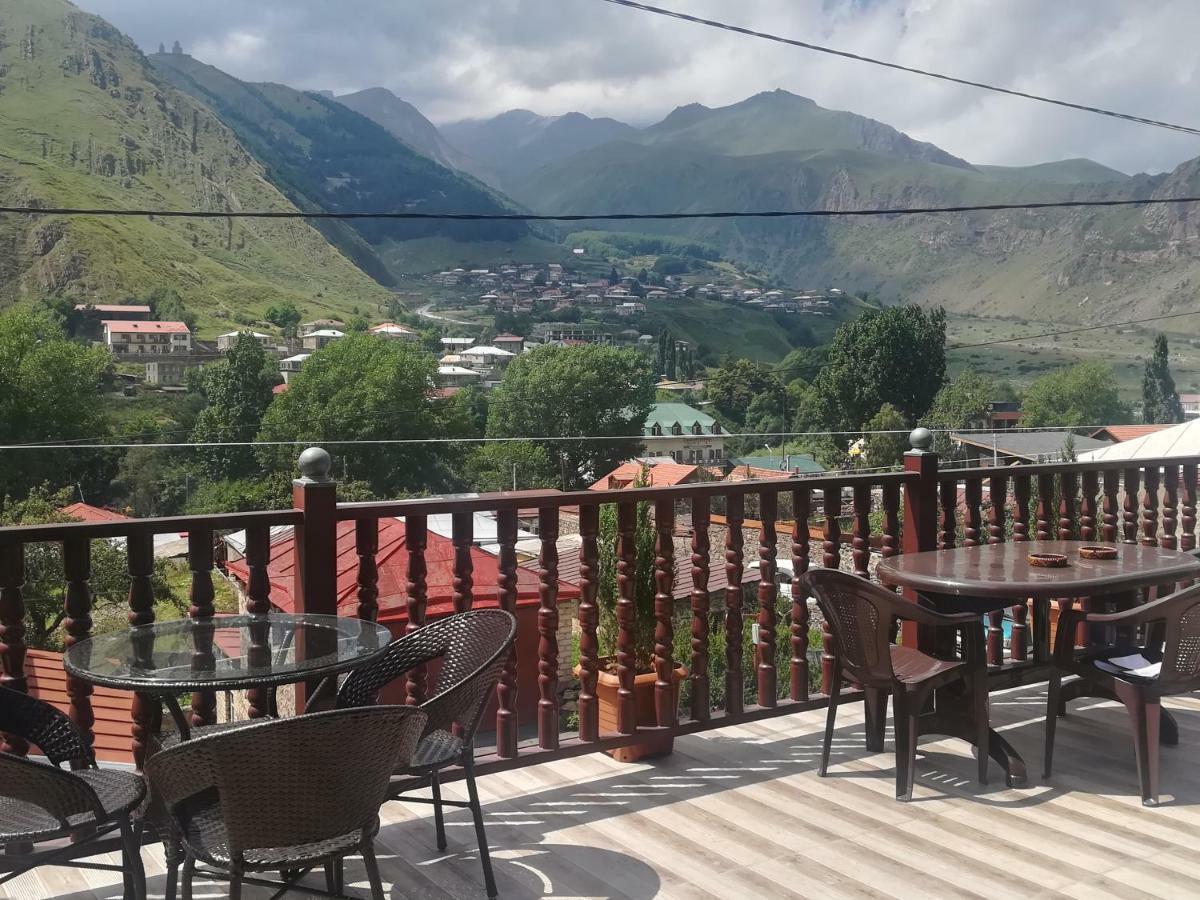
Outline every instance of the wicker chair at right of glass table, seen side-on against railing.
<path fill-rule="evenodd" d="M 392 641 L 377 661 L 350 672 L 337 692 L 340 707 L 376 703 L 384 685 L 419 666 L 440 660 L 431 696 L 419 707 L 430 716 L 421 743 L 413 761 L 398 767 L 396 774 L 419 779 L 415 786 L 428 781 L 431 798 L 404 799 L 433 804 L 438 850 L 446 848 L 443 806 L 472 811 L 488 898 L 496 896 L 496 878 L 475 787 L 474 739 L 487 700 L 512 652 L 516 632 L 516 618 L 504 610 L 473 610 L 439 619 Z M 442 799 L 439 773 L 455 764 L 466 774 L 468 803 Z M 413 786 L 397 781 L 390 797 L 398 798 Z"/>

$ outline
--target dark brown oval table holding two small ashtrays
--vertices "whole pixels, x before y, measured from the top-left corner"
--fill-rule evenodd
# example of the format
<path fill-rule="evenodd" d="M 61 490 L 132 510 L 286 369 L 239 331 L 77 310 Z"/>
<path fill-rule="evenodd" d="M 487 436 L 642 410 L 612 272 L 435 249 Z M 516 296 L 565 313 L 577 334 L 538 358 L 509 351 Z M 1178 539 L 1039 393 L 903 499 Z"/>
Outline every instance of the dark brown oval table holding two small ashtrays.
<path fill-rule="evenodd" d="M 1088 544 L 1115 546 L 1117 558 L 1080 558 L 1079 548 Z M 1062 569 L 1038 568 L 1030 564 L 1030 553 L 1063 553 L 1069 565 Z M 877 577 L 884 584 L 916 590 L 942 612 L 978 612 L 980 629 L 984 613 L 1033 600 L 1034 659 L 1046 661 L 1050 601 L 1069 604 L 1084 599 L 1093 608 L 1127 608 L 1136 602 L 1142 588 L 1200 578 L 1200 559 L 1190 553 L 1141 544 L 1021 541 L 905 553 L 881 562 Z M 1099 642 L 1105 636 L 1097 634 L 1091 640 Z M 1063 695 L 1068 698 L 1069 686 L 1063 686 Z M 961 698 L 946 691 L 942 694 L 944 696 L 935 696 L 920 733 L 950 734 L 971 740 L 971 725 L 959 713 Z M 1178 740 L 1175 721 L 1169 719 L 1164 710 L 1163 743 Z M 995 731 L 990 734 L 989 751 L 1004 768 L 1009 786 L 1019 787 L 1026 782 L 1025 761 Z"/>

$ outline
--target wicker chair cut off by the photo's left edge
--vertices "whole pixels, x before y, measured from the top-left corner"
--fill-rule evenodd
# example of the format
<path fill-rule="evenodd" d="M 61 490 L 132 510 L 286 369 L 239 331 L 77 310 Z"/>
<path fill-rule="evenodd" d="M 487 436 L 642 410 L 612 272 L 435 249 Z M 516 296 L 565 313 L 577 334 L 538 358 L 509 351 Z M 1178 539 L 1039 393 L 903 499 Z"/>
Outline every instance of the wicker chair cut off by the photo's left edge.
<path fill-rule="evenodd" d="M 71 720 L 26 694 L 0 688 L 0 732 L 32 744 L 49 763 L 0 752 L 0 884 L 38 865 L 71 865 L 83 847 L 120 833 L 122 865 L 88 863 L 121 871 L 125 896 L 145 898 L 145 872 L 132 816 L 145 799 L 145 781 L 132 772 L 101 769 Z M 67 763 L 72 770 L 60 768 Z M 65 846 L 35 852 L 32 845 L 71 839 Z M 20 852 L 28 847 L 28 852 Z M 97 848 L 96 852 L 103 852 Z"/>

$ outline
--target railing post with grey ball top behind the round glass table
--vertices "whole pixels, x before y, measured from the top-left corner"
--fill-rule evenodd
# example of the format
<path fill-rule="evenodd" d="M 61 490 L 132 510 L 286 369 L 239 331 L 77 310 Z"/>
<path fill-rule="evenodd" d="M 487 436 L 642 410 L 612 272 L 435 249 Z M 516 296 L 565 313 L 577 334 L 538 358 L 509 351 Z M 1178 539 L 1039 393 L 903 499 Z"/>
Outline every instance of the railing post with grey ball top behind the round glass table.
<path fill-rule="evenodd" d="M 300 454 L 300 478 L 292 482 L 292 505 L 304 512 L 295 529 L 295 574 L 292 596 L 295 612 L 337 614 L 337 482 L 330 478 L 334 461 L 319 446 Z M 296 654 L 324 649 L 305 646 L 296 635 Z M 296 709 L 304 709 L 316 684 L 296 685 Z"/>

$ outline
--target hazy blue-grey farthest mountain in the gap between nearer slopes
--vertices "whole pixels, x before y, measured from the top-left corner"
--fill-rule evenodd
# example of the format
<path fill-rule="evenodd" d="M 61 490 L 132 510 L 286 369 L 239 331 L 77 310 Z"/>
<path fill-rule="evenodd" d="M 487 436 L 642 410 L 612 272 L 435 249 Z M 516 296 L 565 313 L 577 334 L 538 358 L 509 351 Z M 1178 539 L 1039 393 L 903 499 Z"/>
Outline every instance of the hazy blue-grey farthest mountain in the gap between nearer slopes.
<path fill-rule="evenodd" d="M 636 133 L 637 128 L 616 119 L 593 119 L 582 113 L 546 116 L 528 109 L 442 127 L 446 140 L 493 169 L 503 185 L 546 163 Z"/>

